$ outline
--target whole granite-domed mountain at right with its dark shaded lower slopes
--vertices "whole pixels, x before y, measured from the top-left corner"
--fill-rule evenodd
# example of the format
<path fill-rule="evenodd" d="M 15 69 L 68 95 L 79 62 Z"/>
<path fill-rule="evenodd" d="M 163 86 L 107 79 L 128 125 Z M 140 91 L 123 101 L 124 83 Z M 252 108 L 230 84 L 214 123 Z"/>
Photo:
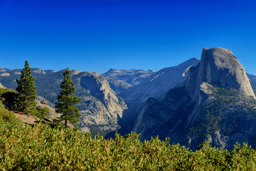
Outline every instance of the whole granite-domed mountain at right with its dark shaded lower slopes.
<path fill-rule="evenodd" d="M 255 94 L 238 59 L 225 48 L 204 48 L 185 85 L 163 100 L 149 98 L 133 130 L 142 139 L 159 135 L 192 149 L 204 140 L 230 149 L 237 141 L 256 146 L 255 123 Z"/>

